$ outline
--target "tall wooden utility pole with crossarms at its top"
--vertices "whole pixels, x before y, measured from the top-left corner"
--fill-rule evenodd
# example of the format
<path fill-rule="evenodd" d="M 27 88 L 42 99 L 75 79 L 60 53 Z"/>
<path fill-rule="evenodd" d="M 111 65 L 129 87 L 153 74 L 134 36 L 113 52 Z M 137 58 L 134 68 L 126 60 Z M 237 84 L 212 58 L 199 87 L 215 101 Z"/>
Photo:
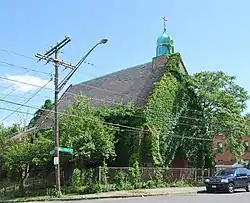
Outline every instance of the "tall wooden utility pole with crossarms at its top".
<path fill-rule="evenodd" d="M 47 51 L 45 54 L 36 54 L 35 56 L 39 58 L 40 60 L 45 60 L 47 63 L 52 62 L 55 66 L 55 76 L 54 76 L 54 85 L 55 85 L 55 101 L 54 101 L 54 119 L 55 119 L 55 153 L 54 153 L 54 165 L 55 165 L 55 174 L 56 174 L 56 186 L 58 193 L 61 192 L 61 180 L 60 180 L 60 153 L 59 153 L 59 118 L 58 118 L 58 95 L 59 95 L 59 89 L 58 89 L 58 81 L 59 81 L 59 73 L 58 69 L 59 66 L 63 66 L 64 68 L 70 68 L 74 69 L 75 66 L 65 63 L 63 61 L 60 61 L 58 59 L 58 53 L 61 48 L 63 48 L 66 44 L 68 44 L 71 41 L 69 37 L 66 37 L 64 40 L 56 44 L 54 47 L 52 47 L 49 51 Z M 55 58 L 52 58 L 51 56 L 55 54 Z"/>

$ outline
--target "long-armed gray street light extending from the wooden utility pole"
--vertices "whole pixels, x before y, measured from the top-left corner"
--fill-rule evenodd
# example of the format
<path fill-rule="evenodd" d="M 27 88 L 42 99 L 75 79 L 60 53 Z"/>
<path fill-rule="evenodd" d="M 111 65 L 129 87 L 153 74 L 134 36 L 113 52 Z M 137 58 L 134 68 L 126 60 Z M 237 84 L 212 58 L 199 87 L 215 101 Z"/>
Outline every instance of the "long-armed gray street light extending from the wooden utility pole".
<path fill-rule="evenodd" d="M 77 69 L 81 66 L 81 64 L 85 61 L 85 59 L 88 57 L 88 55 L 99 45 L 99 44 L 106 44 L 108 42 L 108 39 L 102 39 L 100 40 L 98 43 L 95 44 L 95 46 L 93 46 L 87 54 L 85 54 L 81 60 L 76 64 L 75 68 L 73 70 L 71 70 L 71 72 L 69 72 L 69 74 L 62 80 L 62 82 L 59 84 L 58 86 L 58 91 L 60 92 L 64 86 L 66 85 L 66 83 L 69 81 L 69 79 L 72 77 L 72 75 L 77 71 Z"/>

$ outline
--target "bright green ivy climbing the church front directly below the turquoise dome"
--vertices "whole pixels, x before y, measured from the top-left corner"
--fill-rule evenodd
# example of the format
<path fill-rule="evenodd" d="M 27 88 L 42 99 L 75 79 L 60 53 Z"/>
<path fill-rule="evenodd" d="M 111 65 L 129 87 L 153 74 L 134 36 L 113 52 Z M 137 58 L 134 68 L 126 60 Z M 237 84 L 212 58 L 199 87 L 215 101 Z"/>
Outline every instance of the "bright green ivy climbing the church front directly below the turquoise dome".
<path fill-rule="evenodd" d="M 181 147 L 178 121 L 183 109 L 187 106 L 186 89 L 183 87 L 183 77 L 180 69 L 180 55 L 168 56 L 166 72 L 160 81 L 155 83 L 154 91 L 148 98 L 145 108 L 146 120 L 149 126 L 154 126 L 153 142 L 159 140 L 159 151 L 152 149 L 152 159 L 161 160 L 160 165 L 168 166 Z M 160 154 L 161 158 L 155 157 Z"/>

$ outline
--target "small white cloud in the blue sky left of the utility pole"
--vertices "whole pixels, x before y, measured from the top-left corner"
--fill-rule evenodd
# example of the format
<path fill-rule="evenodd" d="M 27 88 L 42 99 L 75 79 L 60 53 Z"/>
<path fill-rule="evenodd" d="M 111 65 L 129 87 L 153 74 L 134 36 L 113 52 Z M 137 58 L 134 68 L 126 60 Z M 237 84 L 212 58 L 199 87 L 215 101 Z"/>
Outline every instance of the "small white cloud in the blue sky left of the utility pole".
<path fill-rule="evenodd" d="M 30 90 L 39 88 L 39 87 L 35 87 L 32 85 L 44 86 L 46 83 L 48 83 L 48 80 L 43 80 L 39 77 L 31 76 L 31 75 L 7 75 L 6 78 L 10 80 L 2 80 L 2 82 L 12 84 L 13 85 L 12 89 L 15 89 L 21 92 L 28 92 Z M 19 82 L 15 82 L 15 81 L 19 81 Z M 29 83 L 31 85 L 24 84 L 24 83 Z M 46 87 L 53 88 L 53 83 L 50 82 Z"/>

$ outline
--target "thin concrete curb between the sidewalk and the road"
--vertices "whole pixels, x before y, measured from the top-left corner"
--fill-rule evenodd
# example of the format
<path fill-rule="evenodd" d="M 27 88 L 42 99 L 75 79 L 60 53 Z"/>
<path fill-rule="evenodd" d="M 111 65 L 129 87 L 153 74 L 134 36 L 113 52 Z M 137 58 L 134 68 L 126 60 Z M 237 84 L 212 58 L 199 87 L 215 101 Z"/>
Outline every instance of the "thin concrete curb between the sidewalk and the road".
<path fill-rule="evenodd" d="M 93 197 L 65 197 L 65 198 L 44 198 L 39 200 L 23 199 L 23 200 L 5 200 L 3 202 L 44 202 L 44 201 L 80 201 L 80 200 L 94 200 L 94 199 L 116 199 L 116 198 L 134 198 L 134 197 L 150 197 L 150 196 L 164 196 L 164 195 L 178 195 L 178 194 L 194 194 L 204 193 L 204 191 L 186 191 L 186 192 L 161 192 L 161 193 L 138 193 L 138 194 L 124 194 L 124 195 L 110 195 L 110 196 L 93 196 Z M 1 201 L 1 200 L 0 200 Z"/>

